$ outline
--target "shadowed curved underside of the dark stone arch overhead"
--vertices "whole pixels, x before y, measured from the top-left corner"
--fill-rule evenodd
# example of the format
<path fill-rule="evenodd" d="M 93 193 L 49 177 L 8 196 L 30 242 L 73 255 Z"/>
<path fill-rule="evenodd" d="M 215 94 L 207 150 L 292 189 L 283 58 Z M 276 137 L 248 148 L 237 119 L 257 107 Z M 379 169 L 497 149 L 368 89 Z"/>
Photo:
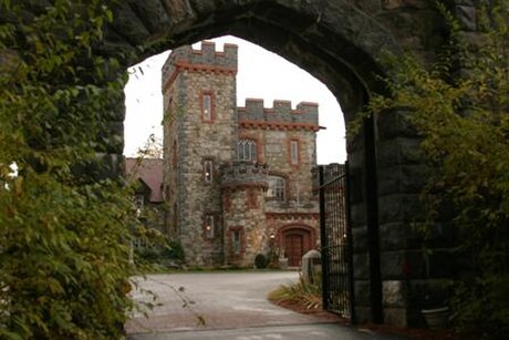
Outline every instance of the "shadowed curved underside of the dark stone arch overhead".
<path fill-rule="evenodd" d="M 359 28 L 360 32 L 352 32 L 352 38 L 345 39 L 344 34 L 340 33 L 341 30 L 347 31 L 349 28 L 343 28 L 342 24 L 352 25 L 353 19 L 343 18 L 346 23 L 334 19 L 342 19 L 341 16 L 346 14 L 362 16 L 349 12 L 344 3 L 324 4 L 323 8 L 312 6 L 300 8 L 297 3 L 302 1 L 293 1 L 292 8 L 276 2 L 247 2 L 250 4 L 210 6 L 208 9 L 184 7 L 180 8 L 180 12 L 184 12 L 180 16 L 184 18 L 178 24 L 173 27 L 159 24 L 159 30 L 154 23 L 146 22 L 144 16 L 147 13 L 143 12 L 139 4 L 134 10 L 132 6 L 131 8 L 124 6 L 123 11 L 131 10 L 142 18 L 139 21 L 147 28 L 149 34 L 142 43 L 145 51 L 139 53 L 134 62 L 183 44 L 231 34 L 285 58 L 322 81 L 339 100 L 346 121 L 350 121 L 352 114 L 365 103 L 371 91 L 380 90 L 376 89 L 378 84 L 373 76 L 380 73 L 374 62 L 376 55 L 370 55 L 365 50 L 371 49 L 373 52 L 374 44 L 384 43 L 394 48 L 394 43 L 386 35 L 382 40 L 376 34 L 378 41 L 362 41 L 363 34 L 365 35 L 363 30 L 373 31 L 370 24 L 376 23 L 364 22 L 363 27 Z M 120 13 L 117 18 L 123 18 L 122 14 L 125 14 L 122 11 Z M 175 21 L 178 21 L 177 17 L 175 14 Z M 362 17 L 357 20 L 370 19 Z M 122 30 L 122 23 L 115 31 L 123 32 L 124 35 L 128 34 Z M 127 37 L 126 40 L 136 43 L 133 39 Z"/>

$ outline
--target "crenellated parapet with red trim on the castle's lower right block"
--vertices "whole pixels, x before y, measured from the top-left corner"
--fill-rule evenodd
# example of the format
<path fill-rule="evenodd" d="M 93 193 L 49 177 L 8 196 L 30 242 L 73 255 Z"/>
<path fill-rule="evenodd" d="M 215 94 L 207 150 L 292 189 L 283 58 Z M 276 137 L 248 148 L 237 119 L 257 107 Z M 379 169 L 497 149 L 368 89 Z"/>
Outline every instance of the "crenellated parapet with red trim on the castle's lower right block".
<path fill-rule="evenodd" d="M 300 102 L 293 110 L 290 101 L 276 100 L 272 107 L 264 107 L 263 100 L 246 99 L 237 112 L 242 127 L 320 130 L 316 103 Z"/>

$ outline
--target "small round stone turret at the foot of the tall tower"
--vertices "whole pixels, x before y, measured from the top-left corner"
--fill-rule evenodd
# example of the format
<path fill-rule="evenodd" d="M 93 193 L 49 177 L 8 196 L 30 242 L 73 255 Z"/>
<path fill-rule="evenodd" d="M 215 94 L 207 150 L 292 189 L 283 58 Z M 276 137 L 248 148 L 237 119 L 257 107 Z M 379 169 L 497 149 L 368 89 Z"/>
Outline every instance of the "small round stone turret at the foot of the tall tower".
<path fill-rule="evenodd" d="M 258 254 L 269 251 L 264 198 L 264 164 L 237 161 L 222 167 L 222 216 L 226 265 L 252 267 Z"/>

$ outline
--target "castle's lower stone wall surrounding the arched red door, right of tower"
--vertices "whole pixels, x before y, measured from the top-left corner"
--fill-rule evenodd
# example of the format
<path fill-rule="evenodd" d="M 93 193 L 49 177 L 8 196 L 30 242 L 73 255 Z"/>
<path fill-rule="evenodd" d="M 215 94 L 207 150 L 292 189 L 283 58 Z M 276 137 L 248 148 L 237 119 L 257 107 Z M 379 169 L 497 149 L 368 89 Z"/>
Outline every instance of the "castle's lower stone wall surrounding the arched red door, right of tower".
<path fill-rule="evenodd" d="M 319 244 L 318 197 L 312 192 L 312 168 L 316 165 L 315 132 L 318 105 L 299 103 L 292 110 L 291 102 L 274 101 L 264 107 L 262 100 L 248 99 L 239 107 L 239 135 L 257 141 L 258 159 L 269 167 L 270 175 L 285 178 L 285 199 L 264 198 L 267 234 L 276 237 L 276 247 L 284 253 L 281 230 L 287 227 L 309 228 L 311 238 L 305 250 Z M 299 144 L 299 163 L 290 162 L 290 142 Z"/>

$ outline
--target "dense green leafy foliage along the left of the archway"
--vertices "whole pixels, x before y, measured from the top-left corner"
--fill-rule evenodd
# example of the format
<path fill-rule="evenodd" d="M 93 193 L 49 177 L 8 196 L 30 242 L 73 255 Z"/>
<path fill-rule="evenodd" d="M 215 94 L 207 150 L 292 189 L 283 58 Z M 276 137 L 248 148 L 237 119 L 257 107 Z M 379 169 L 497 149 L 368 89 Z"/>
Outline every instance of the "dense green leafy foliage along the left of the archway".
<path fill-rule="evenodd" d="M 133 205 L 94 165 L 118 143 L 125 78 L 95 49 L 113 14 L 40 3 L 0 1 L 0 338 L 120 339 Z"/>

